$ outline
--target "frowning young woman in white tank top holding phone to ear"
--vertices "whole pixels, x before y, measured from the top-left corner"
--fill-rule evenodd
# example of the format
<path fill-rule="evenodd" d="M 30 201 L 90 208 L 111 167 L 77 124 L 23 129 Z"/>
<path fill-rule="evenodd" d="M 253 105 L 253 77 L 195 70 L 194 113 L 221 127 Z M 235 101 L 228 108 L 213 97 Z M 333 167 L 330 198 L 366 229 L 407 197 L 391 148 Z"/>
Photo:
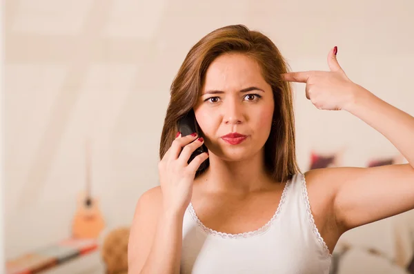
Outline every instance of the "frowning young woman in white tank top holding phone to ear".
<path fill-rule="evenodd" d="M 348 79 L 336 54 L 330 71 L 288 72 L 268 37 L 239 25 L 195 44 L 171 86 L 160 186 L 137 202 L 130 274 L 328 273 L 342 233 L 414 208 L 414 117 Z M 292 81 L 317 108 L 375 128 L 409 164 L 301 173 Z M 188 112 L 200 135 L 178 132 Z"/>

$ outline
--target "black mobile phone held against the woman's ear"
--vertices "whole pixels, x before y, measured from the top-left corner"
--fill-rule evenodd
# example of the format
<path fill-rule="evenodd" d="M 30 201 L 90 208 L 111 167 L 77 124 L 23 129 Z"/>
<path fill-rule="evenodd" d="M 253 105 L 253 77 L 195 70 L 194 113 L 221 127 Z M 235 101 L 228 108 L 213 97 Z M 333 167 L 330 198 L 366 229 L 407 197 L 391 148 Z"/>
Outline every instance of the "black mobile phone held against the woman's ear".
<path fill-rule="evenodd" d="M 201 130 L 199 130 L 199 126 L 197 124 L 197 121 L 195 119 L 195 115 L 193 110 L 188 112 L 184 117 L 181 117 L 178 121 L 178 130 L 181 133 L 181 137 L 184 137 L 186 135 L 190 135 L 191 133 L 197 133 L 198 137 L 201 137 L 200 133 Z M 190 159 L 188 159 L 188 164 L 190 164 L 191 161 L 201 153 L 207 152 L 207 147 L 202 144 L 199 146 L 190 156 Z M 208 159 L 201 163 L 197 171 L 204 170 L 208 166 L 207 163 Z"/>

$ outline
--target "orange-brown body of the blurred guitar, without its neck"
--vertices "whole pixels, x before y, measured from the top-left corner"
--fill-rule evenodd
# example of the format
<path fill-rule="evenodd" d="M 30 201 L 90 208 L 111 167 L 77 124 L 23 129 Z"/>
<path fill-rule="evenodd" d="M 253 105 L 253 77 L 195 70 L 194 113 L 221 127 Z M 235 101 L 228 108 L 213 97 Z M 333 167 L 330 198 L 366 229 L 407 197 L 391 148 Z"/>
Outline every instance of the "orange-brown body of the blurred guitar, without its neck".
<path fill-rule="evenodd" d="M 97 199 L 81 193 L 77 202 L 77 212 L 72 222 L 72 237 L 96 239 L 105 228 L 105 221 Z"/>

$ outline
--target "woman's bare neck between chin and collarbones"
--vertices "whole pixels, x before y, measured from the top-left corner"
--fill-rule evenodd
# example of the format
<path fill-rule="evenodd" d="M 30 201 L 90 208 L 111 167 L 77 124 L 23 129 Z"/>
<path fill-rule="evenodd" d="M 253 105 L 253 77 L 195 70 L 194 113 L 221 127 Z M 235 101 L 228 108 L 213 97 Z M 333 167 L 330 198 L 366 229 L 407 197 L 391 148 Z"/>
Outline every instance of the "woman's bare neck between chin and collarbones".
<path fill-rule="evenodd" d="M 246 195 L 274 186 L 266 171 L 264 150 L 238 162 L 228 162 L 210 153 L 210 167 L 197 181 L 213 192 Z"/>

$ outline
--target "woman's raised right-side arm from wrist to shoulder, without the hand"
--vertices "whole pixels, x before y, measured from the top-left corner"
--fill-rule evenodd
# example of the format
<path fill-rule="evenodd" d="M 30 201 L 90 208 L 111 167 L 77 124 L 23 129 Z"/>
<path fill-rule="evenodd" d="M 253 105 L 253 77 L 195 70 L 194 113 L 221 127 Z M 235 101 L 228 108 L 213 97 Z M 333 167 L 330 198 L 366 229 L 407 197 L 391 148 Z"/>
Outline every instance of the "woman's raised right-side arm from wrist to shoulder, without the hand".
<path fill-rule="evenodd" d="M 414 208 L 414 117 L 360 86 L 355 85 L 353 92 L 353 100 L 344 110 L 384 135 L 409 164 L 332 168 L 326 173 L 336 178 L 334 206 L 346 229 Z"/>

